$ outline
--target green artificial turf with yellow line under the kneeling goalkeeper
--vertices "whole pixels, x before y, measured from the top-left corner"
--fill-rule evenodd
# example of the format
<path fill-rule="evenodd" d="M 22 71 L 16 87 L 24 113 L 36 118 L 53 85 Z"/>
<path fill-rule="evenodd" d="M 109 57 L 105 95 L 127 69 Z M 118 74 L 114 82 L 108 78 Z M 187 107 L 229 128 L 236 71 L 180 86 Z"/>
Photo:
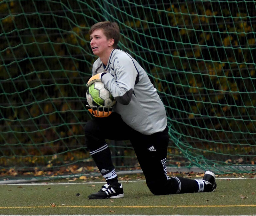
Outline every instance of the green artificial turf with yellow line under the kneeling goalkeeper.
<path fill-rule="evenodd" d="M 123 182 L 125 197 L 105 200 L 88 199 L 88 195 L 98 191 L 104 183 L 0 185 L 0 215 L 256 213 L 256 179 L 217 179 L 216 182 L 214 192 L 164 196 L 151 194 L 144 181 Z M 246 198 L 241 198 L 241 195 Z M 51 207 L 51 203 L 56 207 Z"/>

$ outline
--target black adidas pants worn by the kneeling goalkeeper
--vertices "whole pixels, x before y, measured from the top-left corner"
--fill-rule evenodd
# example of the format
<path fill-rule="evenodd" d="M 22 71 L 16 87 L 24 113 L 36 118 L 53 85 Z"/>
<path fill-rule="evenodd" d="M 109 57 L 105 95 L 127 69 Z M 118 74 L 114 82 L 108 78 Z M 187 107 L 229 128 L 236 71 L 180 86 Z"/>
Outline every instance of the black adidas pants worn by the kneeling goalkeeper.
<path fill-rule="evenodd" d="M 169 178 L 166 170 L 169 142 L 167 127 L 162 132 L 144 135 L 124 123 L 120 115 L 112 113 L 106 118 L 93 118 L 87 122 L 84 129 L 86 144 L 90 151 L 105 145 L 105 139 L 130 140 L 150 191 L 155 195 L 177 193 L 179 181 Z M 101 156 L 97 159 L 94 155 L 94 160 L 99 167 L 104 164 L 104 160 L 111 160 L 109 157 L 110 155 L 106 154 L 105 158 Z M 198 190 L 198 186 L 196 187 Z"/>

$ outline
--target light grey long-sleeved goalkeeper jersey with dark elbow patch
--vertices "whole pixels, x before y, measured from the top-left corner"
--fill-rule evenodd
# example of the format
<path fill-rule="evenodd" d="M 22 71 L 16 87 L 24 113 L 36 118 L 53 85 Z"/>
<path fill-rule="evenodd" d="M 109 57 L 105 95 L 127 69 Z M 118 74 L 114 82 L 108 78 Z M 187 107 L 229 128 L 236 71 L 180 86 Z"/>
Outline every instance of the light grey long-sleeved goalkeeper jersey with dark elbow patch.
<path fill-rule="evenodd" d="M 106 66 L 100 58 L 94 62 L 92 75 L 101 72 L 107 72 L 102 81 L 117 101 L 114 112 L 127 125 L 147 135 L 165 129 L 165 107 L 145 70 L 134 58 L 113 49 Z"/>

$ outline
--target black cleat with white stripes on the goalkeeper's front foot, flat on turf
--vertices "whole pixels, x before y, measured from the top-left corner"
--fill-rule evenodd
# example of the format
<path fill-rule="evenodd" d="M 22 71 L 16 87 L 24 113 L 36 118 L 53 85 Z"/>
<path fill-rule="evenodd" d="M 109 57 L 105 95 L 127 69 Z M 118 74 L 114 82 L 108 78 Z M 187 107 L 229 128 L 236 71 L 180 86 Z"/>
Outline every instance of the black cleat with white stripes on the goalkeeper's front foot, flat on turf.
<path fill-rule="evenodd" d="M 108 199 L 108 198 L 122 198 L 124 197 L 124 191 L 122 184 L 119 186 L 105 184 L 101 189 L 95 193 L 88 196 L 89 199 Z"/>

